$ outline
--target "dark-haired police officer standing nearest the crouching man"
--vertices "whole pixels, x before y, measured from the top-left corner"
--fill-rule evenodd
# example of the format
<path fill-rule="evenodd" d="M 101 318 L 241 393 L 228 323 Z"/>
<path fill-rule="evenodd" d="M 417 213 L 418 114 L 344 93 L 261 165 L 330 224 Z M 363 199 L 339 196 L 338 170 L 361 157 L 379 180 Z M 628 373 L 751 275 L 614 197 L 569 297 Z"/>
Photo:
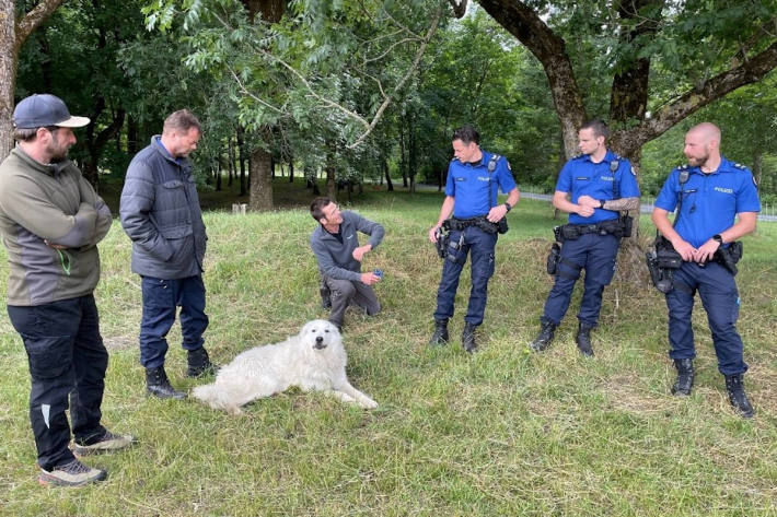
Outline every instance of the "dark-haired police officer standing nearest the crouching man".
<path fill-rule="evenodd" d="M 483 151 L 478 132 L 464 126 L 453 132 L 454 158 L 448 167 L 445 199 L 437 224 L 429 230 L 429 239 L 437 243 L 443 223 L 450 221 L 450 245 L 442 267 L 442 278 L 437 292 L 433 345 L 448 343 L 448 320 L 453 316 L 453 298 L 459 287 L 459 277 L 472 258 L 472 291 L 464 318 L 462 344 L 472 353 L 477 343 L 475 329 L 483 322 L 486 310 L 488 280 L 494 274 L 494 250 L 497 244 L 497 223 L 518 203 L 519 192 L 508 161 Z M 508 193 L 507 202 L 497 204 L 497 189 Z"/>

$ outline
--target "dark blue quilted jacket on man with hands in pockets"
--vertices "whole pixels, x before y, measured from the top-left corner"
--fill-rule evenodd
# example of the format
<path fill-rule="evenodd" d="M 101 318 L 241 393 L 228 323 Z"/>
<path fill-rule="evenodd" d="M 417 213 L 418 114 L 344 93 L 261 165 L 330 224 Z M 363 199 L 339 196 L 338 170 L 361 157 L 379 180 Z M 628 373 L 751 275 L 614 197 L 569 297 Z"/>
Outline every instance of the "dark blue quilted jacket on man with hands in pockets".
<path fill-rule="evenodd" d="M 132 239 L 132 271 L 165 280 L 202 272 L 208 237 L 192 166 L 173 158 L 159 136 L 127 168 L 119 216 Z"/>

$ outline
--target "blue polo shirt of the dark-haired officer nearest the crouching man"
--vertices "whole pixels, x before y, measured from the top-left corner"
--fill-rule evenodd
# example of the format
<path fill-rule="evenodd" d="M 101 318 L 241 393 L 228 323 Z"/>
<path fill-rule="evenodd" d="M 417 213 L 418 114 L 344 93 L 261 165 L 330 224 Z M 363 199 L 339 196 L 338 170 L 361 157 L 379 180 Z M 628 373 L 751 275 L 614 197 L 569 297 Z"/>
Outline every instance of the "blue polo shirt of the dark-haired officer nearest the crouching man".
<path fill-rule="evenodd" d="M 515 188 L 515 180 L 512 178 L 507 158 L 500 156 L 496 168 L 489 173 L 488 162 L 492 153 L 483 150 L 480 152 L 483 158 L 477 163 L 461 163 L 457 158 L 453 158 L 448 166 L 445 196 L 456 199 L 453 205 L 453 216 L 456 219 L 472 219 L 488 214 L 497 202 L 497 188 L 503 193 Z"/>

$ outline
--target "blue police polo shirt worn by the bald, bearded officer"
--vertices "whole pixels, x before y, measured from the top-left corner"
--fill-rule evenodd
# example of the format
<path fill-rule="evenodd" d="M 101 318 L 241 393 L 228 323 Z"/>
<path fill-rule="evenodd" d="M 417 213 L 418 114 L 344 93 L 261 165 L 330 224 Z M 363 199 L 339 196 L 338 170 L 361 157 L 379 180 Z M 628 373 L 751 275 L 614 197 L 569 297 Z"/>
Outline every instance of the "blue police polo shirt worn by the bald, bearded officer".
<path fill-rule="evenodd" d="M 681 186 L 682 171 L 688 172 L 688 180 Z M 761 212 L 753 174 L 744 165 L 729 162 L 723 156 L 718 169 L 710 174 L 688 165 L 672 171 L 656 199 L 656 207 L 674 211 L 681 189 L 683 203 L 674 230 L 694 248 L 733 226 L 738 213 Z"/>

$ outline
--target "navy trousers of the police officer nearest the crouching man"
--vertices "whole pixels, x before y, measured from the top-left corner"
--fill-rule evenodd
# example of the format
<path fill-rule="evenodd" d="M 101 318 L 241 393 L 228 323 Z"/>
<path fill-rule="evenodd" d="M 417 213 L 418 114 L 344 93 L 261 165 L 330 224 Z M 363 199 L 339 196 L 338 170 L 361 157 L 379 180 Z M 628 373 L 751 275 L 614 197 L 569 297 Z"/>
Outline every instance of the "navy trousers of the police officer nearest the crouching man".
<path fill-rule="evenodd" d="M 489 234 L 469 226 L 464 232 L 451 232 L 451 244 L 459 244 L 461 235 L 464 242 L 459 249 L 449 248 L 450 256 L 442 266 L 442 278 L 437 290 L 436 320 L 447 320 L 453 316 L 453 302 L 459 289 L 459 277 L 466 262 L 467 255 L 472 255 L 472 290 L 469 291 L 469 305 L 464 320 L 471 325 L 480 325 L 486 312 L 488 299 L 488 280 L 494 275 L 496 266 L 494 249 L 497 245 L 497 234 Z M 455 260 L 451 260 L 453 257 Z"/>

